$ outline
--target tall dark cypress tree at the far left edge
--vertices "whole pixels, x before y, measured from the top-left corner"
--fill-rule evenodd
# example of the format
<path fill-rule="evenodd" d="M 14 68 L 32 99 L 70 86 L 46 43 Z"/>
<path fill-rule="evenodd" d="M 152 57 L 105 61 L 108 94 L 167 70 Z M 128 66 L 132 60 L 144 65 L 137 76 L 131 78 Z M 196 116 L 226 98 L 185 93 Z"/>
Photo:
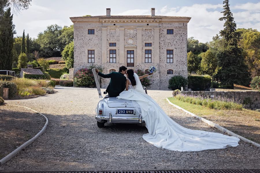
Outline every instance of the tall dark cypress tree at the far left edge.
<path fill-rule="evenodd" d="M 5 27 L 0 27 L 0 70 L 12 70 L 12 56 L 14 46 L 14 25 L 11 8 L 3 15 L 2 21 Z"/>

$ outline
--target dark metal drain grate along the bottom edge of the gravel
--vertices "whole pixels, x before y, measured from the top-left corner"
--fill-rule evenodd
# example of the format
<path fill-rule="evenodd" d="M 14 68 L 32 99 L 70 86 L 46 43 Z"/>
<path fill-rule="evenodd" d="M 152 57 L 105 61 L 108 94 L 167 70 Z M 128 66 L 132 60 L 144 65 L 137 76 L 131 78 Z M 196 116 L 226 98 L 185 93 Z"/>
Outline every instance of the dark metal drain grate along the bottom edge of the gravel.
<path fill-rule="evenodd" d="M 0 173 L 12 173 L 1 172 Z M 260 173 L 260 170 L 44 171 L 14 173 Z"/>

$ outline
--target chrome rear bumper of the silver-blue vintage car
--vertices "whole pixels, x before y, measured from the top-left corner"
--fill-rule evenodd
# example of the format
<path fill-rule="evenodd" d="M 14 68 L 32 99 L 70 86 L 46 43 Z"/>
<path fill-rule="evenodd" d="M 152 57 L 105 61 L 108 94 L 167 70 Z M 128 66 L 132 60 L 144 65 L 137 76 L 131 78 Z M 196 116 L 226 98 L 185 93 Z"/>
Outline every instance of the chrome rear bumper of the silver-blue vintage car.
<path fill-rule="evenodd" d="M 99 122 L 111 122 L 111 123 L 144 123 L 142 120 L 142 114 L 139 114 L 139 116 L 136 117 L 121 117 L 116 115 L 112 115 L 109 113 L 109 116 L 99 116 L 96 115 L 95 119 Z"/>

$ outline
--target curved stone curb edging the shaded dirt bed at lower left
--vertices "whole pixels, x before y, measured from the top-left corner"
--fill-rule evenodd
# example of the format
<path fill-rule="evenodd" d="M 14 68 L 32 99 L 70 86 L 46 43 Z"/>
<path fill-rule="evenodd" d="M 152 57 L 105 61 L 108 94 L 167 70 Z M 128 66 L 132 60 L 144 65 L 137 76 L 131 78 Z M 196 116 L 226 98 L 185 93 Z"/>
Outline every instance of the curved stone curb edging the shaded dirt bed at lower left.
<path fill-rule="evenodd" d="M 19 105 L 12 105 L 12 104 L 8 104 L 11 106 L 19 106 Z M 34 142 L 34 140 L 36 140 L 36 138 L 38 138 L 47 128 L 47 125 L 49 123 L 48 118 L 46 116 L 44 116 L 43 114 L 41 114 L 40 112 L 33 110 L 31 108 L 25 107 L 25 106 L 19 106 L 19 107 L 23 107 L 29 110 L 32 110 L 40 115 L 42 115 L 45 119 L 46 119 L 46 123 L 44 124 L 44 126 L 42 127 L 41 131 L 39 133 L 37 133 L 33 138 L 31 138 L 30 140 L 28 140 L 27 142 L 25 142 L 24 144 L 22 144 L 21 146 L 19 146 L 18 148 L 16 148 L 14 151 L 12 151 L 10 154 L 8 154 L 7 156 L 5 156 L 3 159 L 0 160 L 0 165 L 3 165 L 3 163 L 5 163 L 6 161 L 12 159 L 17 153 L 19 153 L 22 149 L 24 149 L 25 147 L 27 147 L 28 145 L 30 145 L 32 142 Z"/>

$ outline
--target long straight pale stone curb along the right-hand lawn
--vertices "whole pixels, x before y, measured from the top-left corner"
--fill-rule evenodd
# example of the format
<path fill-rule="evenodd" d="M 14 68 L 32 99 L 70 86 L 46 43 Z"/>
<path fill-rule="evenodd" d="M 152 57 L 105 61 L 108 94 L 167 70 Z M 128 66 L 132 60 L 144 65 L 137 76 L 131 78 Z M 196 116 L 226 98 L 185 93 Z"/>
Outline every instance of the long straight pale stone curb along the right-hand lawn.
<path fill-rule="evenodd" d="M 254 141 L 251 141 L 251 140 L 249 140 L 249 139 L 246 139 L 246 138 L 244 138 L 243 136 L 240 136 L 240 135 L 238 135 L 238 134 L 236 134 L 236 133 L 234 133 L 234 132 L 232 132 L 232 131 L 230 131 L 230 130 L 228 130 L 228 129 L 226 129 L 226 128 L 224 128 L 224 127 L 222 127 L 222 126 L 220 126 L 220 125 L 218 125 L 218 124 L 216 124 L 216 123 L 213 123 L 213 122 L 211 122 L 211 121 L 209 121 L 209 120 L 207 120 L 207 119 L 204 119 L 204 118 L 202 118 L 202 117 L 200 117 L 200 116 L 198 116 L 198 115 L 195 115 L 195 114 L 193 114 L 193 113 L 191 113 L 191 112 L 189 112 L 189 111 L 187 111 L 187 110 L 181 108 L 180 106 L 177 106 L 177 105 L 173 104 L 172 102 L 170 102 L 170 100 L 169 100 L 168 98 L 166 98 L 166 100 L 167 100 L 167 101 L 169 102 L 169 104 L 171 104 L 172 106 L 174 106 L 174 107 L 176 107 L 176 108 L 178 108 L 178 109 L 181 109 L 181 110 L 183 110 L 184 112 L 186 112 L 186 113 L 188 113 L 188 114 L 190 114 L 190 115 L 192 115 L 192 116 L 195 116 L 197 119 L 200 119 L 201 121 L 207 123 L 208 125 L 210 125 L 210 126 L 212 126 L 212 127 L 216 127 L 216 128 L 219 129 L 220 131 L 228 133 L 230 136 L 235 136 L 235 137 L 241 139 L 241 140 L 244 141 L 244 142 L 248 142 L 248 143 L 253 144 L 253 145 L 255 145 L 255 146 L 257 146 L 257 147 L 260 148 L 260 144 L 254 142 Z"/>

